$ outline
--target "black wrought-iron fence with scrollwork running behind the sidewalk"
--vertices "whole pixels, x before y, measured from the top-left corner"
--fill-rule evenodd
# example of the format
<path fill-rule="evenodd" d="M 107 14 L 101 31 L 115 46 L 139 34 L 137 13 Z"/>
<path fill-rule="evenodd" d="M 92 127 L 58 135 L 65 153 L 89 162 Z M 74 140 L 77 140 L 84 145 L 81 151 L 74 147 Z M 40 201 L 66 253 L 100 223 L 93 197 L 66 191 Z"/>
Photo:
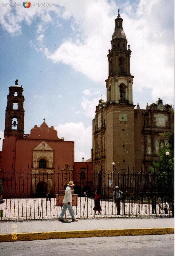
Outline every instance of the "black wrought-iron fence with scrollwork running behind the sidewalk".
<path fill-rule="evenodd" d="M 13 167 L 10 172 L 1 171 L 0 180 L 0 220 L 57 219 L 70 180 L 75 184 L 72 204 L 77 218 L 174 217 L 174 177 L 167 174 L 160 179 L 154 172 L 129 168 L 90 172 L 88 167 L 82 171 L 66 166 L 55 172 L 28 166 L 25 171 Z M 124 192 L 120 195 L 120 215 L 113 200 L 115 186 Z M 96 212 L 95 191 L 101 207 Z M 71 218 L 68 212 L 65 218 Z"/>

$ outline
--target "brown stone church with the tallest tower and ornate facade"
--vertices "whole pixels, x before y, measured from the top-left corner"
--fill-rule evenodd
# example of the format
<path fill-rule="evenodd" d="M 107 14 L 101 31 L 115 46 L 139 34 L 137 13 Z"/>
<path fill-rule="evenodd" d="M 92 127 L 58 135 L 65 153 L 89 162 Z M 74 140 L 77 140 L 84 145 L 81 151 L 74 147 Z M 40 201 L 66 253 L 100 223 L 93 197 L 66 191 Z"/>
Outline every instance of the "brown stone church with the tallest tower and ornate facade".
<path fill-rule="evenodd" d="M 109 49 L 106 82 L 107 101 L 99 100 L 93 119 L 92 160 L 93 169 L 112 171 L 115 163 L 119 171 L 124 169 L 146 172 L 153 161 L 163 138 L 159 133 L 171 130 L 170 105 L 156 103 L 140 109 L 132 100 L 134 76 L 130 73 L 130 45 L 123 31 L 123 19 L 118 13 L 115 31 Z"/>

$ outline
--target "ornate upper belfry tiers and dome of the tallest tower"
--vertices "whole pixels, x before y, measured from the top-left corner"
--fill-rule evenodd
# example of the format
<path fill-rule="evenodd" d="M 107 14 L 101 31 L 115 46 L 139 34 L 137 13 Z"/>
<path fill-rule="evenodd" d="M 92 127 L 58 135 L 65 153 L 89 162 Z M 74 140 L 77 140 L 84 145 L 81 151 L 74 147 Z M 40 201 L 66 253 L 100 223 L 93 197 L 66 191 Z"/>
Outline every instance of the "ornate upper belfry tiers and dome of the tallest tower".
<path fill-rule="evenodd" d="M 120 17 L 120 10 L 115 19 L 115 31 L 112 35 L 111 50 L 107 54 L 108 58 L 108 79 L 107 105 L 125 104 L 133 105 L 132 101 L 132 80 L 134 76 L 130 73 L 131 50 L 123 31 L 123 19 Z"/>

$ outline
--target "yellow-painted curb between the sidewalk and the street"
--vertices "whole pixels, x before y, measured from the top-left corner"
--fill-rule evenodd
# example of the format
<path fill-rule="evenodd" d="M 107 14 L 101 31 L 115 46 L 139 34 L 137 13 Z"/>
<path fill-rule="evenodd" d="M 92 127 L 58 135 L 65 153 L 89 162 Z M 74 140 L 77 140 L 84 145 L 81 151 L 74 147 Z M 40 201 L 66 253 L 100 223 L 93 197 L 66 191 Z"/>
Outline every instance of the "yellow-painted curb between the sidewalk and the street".
<path fill-rule="evenodd" d="M 45 240 L 60 238 L 80 238 L 93 236 L 145 236 L 145 235 L 167 235 L 174 234 L 174 228 L 128 228 L 128 229 L 100 229 L 100 230 L 76 230 L 76 231 L 52 231 L 1 234 L 0 242 Z"/>

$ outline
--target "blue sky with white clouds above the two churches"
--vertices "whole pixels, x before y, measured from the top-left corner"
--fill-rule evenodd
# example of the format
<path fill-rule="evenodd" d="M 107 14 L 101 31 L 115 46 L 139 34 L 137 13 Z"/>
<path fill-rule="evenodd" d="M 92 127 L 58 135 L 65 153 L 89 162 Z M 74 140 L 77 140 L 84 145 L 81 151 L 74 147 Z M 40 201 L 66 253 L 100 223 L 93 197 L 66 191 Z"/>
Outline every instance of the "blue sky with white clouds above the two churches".
<path fill-rule="evenodd" d="M 30 3 L 24 8 L 22 1 L 0 0 L 1 150 L 8 87 L 18 79 L 25 134 L 45 118 L 59 138 L 75 141 L 75 161 L 91 157 L 92 119 L 100 95 L 106 100 L 107 54 L 118 7 L 132 51 L 134 104 L 145 109 L 161 98 L 174 105 L 173 0 Z"/>

